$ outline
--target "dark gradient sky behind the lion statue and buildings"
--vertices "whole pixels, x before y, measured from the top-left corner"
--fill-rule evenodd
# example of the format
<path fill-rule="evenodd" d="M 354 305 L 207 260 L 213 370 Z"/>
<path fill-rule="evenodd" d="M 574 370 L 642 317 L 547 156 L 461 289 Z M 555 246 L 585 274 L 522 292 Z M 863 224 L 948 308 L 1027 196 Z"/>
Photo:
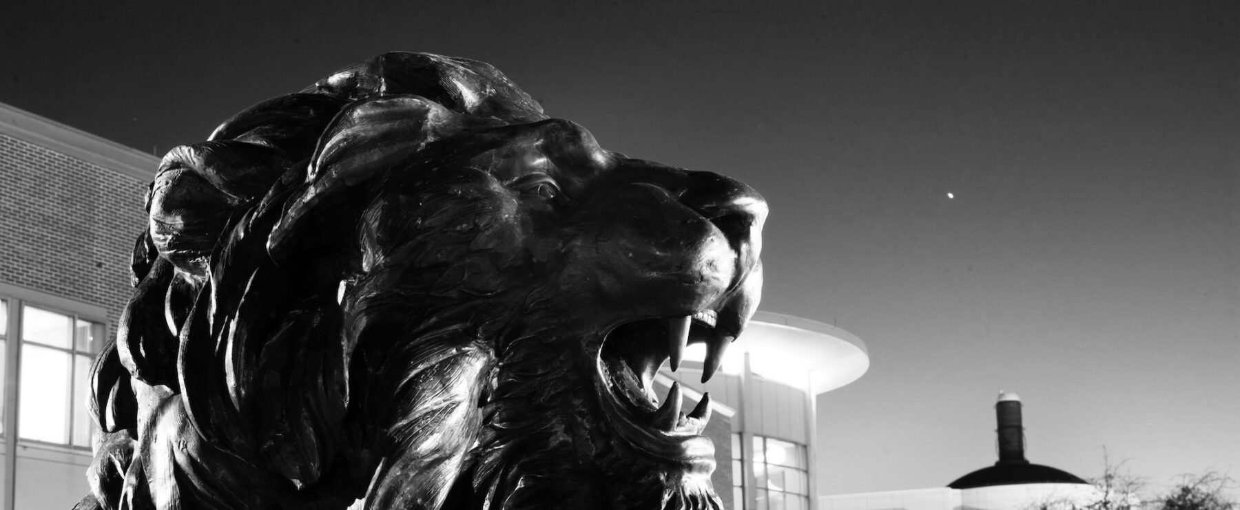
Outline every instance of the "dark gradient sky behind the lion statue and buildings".
<path fill-rule="evenodd" d="M 11 4 L 0 102 L 146 152 L 408 50 L 749 182 L 763 308 L 870 349 L 825 493 L 992 463 L 999 389 L 1033 462 L 1240 473 L 1240 4 Z"/>

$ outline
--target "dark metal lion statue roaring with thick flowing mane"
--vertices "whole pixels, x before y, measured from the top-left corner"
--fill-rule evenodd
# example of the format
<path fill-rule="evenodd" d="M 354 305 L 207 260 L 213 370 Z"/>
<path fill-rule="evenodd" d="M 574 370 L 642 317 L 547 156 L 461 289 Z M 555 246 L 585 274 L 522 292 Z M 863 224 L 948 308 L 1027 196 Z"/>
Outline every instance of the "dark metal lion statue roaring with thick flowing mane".
<path fill-rule="evenodd" d="M 753 314 L 763 198 L 387 53 L 164 157 L 78 509 L 719 509 L 652 378 Z"/>

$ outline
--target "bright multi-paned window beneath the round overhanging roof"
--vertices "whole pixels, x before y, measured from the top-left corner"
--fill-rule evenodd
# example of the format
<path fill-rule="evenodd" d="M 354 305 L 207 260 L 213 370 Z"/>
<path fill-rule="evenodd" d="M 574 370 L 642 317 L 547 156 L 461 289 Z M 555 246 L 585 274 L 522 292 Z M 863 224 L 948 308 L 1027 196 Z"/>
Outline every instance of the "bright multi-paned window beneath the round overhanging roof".
<path fill-rule="evenodd" d="M 805 446 L 754 436 L 756 510 L 810 508 L 810 473 Z"/>

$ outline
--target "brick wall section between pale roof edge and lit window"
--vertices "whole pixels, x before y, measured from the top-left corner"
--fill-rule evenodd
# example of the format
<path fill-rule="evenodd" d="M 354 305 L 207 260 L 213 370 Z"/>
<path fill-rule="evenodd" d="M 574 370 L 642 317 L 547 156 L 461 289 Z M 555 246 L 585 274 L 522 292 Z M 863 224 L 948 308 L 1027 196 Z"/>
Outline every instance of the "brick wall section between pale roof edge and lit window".
<path fill-rule="evenodd" d="M 115 331 L 146 184 L 0 134 L 0 281 L 105 308 Z"/>

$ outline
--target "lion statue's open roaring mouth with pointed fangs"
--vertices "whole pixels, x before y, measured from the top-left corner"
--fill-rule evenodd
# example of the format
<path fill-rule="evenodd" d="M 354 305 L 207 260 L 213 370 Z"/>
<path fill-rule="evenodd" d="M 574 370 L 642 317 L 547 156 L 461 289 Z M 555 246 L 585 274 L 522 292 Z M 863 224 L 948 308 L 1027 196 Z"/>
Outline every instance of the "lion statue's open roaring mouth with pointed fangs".
<path fill-rule="evenodd" d="M 653 317 L 630 321 L 615 327 L 605 338 L 599 353 L 599 370 L 611 399 L 622 410 L 624 418 L 662 436 L 699 436 L 711 420 L 711 395 L 688 412 L 682 407 L 680 382 L 660 399 L 655 392 L 655 375 L 670 363 L 680 368 L 684 349 L 706 344 L 702 382 L 711 380 L 735 333 L 715 328 L 718 313 L 712 309 L 691 316 Z"/>

